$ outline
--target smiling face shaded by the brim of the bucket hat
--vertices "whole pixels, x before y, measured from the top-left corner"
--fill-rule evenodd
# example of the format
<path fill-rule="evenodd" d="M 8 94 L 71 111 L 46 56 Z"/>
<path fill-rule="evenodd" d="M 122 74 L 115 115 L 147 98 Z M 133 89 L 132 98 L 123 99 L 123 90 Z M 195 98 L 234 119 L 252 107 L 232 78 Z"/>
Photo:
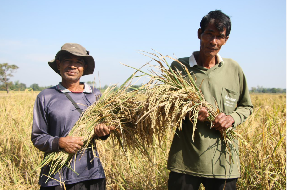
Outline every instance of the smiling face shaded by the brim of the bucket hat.
<path fill-rule="evenodd" d="M 56 60 L 56 63 L 62 76 L 62 80 L 69 82 L 79 81 L 87 67 L 84 59 L 75 55 L 63 55 L 61 62 Z"/>

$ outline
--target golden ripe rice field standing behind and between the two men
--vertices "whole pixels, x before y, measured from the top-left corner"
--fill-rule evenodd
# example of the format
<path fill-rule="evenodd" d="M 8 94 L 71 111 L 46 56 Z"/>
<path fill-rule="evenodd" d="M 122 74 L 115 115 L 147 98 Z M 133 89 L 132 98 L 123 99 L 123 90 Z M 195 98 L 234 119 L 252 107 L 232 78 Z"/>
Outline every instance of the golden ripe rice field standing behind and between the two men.
<path fill-rule="evenodd" d="M 0 92 L 0 189 L 38 189 L 43 153 L 32 145 L 33 106 L 38 92 Z M 286 94 L 251 94 L 253 115 L 237 127 L 254 146 L 240 144 L 237 189 L 286 189 Z M 149 157 L 111 139 L 98 141 L 107 189 L 167 189 L 168 151 L 173 134 L 156 141 Z M 203 188 L 203 187 L 202 187 Z"/>

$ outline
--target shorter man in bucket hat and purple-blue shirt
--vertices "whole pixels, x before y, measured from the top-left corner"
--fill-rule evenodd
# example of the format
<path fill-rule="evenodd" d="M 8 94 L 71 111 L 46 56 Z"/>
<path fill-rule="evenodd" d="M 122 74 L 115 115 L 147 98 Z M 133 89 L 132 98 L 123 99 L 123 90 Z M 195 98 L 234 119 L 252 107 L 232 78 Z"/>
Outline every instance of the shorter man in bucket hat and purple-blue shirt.
<path fill-rule="evenodd" d="M 82 75 L 93 73 L 95 61 L 80 44 L 66 43 L 48 64 L 61 75 L 62 81 L 38 94 L 34 105 L 31 140 L 36 148 L 45 152 L 45 156 L 61 150 L 75 153 L 83 146 L 83 137 L 67 135 L 82 111 L 101 96 L 98 89 L 80 82 Z M 110 135 L 109 130 L 114 129 L 113 126 L 98 124 L 94 131 L 98 138 L 105 140 Z M 78 174 L 64 166 L 57 174 L 48 178 L 50 167 L 42 167 L 40 189 L 63 189 L 59 181 L 65 183 L 66 189 L 105 189 L 104 170 L 96 146 L 93 147 L 96 158 L 92 148 L 88 148 L 84 155 L 75 154 L 76 157 L 69 164 L 75 167 L 73 170 Z"/>

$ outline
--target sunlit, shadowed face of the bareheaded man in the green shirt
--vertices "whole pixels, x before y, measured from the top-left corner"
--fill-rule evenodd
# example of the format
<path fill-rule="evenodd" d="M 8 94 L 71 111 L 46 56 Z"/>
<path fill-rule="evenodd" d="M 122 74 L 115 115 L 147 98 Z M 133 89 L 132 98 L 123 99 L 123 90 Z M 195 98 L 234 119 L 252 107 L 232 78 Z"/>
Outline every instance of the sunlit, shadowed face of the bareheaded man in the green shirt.
<path fill-rule="evenodd" d="M 217 30 L 213 24 L 208 24 L 204 31 L 199 28 L 197 31 L 198 39 L 200 39 L 200 50 L 206 56 L 215 56 L 221 49 L 229 36 L 225 36 L 226 28 L 223 32 Z"/>

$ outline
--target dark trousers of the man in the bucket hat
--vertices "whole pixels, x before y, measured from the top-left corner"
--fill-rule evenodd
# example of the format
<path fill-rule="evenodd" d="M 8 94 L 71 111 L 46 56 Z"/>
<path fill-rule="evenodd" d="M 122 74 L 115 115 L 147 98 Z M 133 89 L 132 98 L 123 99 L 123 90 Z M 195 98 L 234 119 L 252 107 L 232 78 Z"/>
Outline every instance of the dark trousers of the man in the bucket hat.
<path fill-rule="evenodd" d="M 106 189 L 106 178 L 80 181 L 78 183 L 67 184 L 65 187 L 66 189 Z M 41 186 L 40 189 L 64 189 L 64 186 Z"/>

